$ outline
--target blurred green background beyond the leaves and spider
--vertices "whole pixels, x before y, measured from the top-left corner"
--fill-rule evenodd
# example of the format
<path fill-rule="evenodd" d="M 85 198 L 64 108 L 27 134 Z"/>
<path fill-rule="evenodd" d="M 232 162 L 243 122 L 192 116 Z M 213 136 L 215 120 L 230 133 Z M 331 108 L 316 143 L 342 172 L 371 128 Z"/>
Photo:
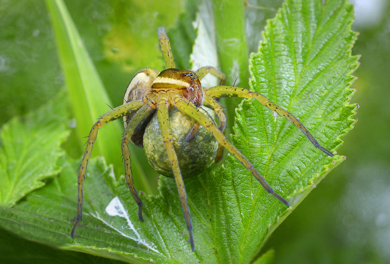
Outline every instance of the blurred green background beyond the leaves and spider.
<path fill-rule="evenodd" d="M 280 0 L 248 2 L 273 9 L 282 4 Z M 358 122 L 337 151 L 347 156 L 346 161 L 303 200 L 262 248 L 262 252 L 275 250 L 274 263 L 390 263 L 390 4 L 387 0 L 351 2 L 356 5 L 353 29 L 360 32 L 353 55 L 362 55 L 354 74 L 359 79 L 352 86 L 357 92 L 351 99 L 360 105 Z M 180 0 L 65 3 L 115 106 L 122 103 L 124 90 L 139 69 L 163 69 L 156 28 L 175 27 L 185 7 Z M 275 11 L 247 7 L 250 52 L 257 50 L 265 20 L 273 16 Z M 43 0 L 0 0 L 0 28 L 1 125 L 53 98 L 64 82 Z M 69 147 L 77 144 L 74 137 L 67 141 L 67 149 L 75 149 Z M 70 154 L 79 158 L 82 151 Z M 137 155 L 142 155 L 141 149 Z M 0 230 L 0 255 L 5 254 L 14 256 L 14 263 L 59 263 L 61 259 L 120 263 L 57 250 Z"/>

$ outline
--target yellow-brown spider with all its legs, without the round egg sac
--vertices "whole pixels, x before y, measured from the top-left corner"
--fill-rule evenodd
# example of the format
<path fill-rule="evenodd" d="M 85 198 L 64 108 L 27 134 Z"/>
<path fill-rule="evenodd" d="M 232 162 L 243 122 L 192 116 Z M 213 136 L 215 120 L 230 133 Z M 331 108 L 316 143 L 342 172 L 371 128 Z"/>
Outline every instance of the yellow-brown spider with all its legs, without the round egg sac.
<path fill-rule="evenodd" d="M 135 74 L 128 85 L 124 97 L 124 104 L 113 108 L 109 112 L 99 117 L 94 126 L 92 126 L 92 129 L 89 133 L 87 147 L 78 170 L 78 209 L 76 221 L 70 234 L 71 237 L 74 236 L 76 227 L 82 220 L 83 181 L 92 151 L 92 146 L 96 140 L 97 130 L 106 123 L 121 117 L 123 117 L 125 124 L 125 130 L 121 144 L 124 159 L 125 180 L 133 197 L 135 198 L 135 201 L 137 202 L 138 219 L 143 221 L 142 202 L 134 186 L 133 176 L 131 174 L 130 151 L 127 143 L 131 141 L 133 144 L 142 147 L 145 129 L 149 125 L 152 117 L 157 115 L 159 128 L 163 138 L 163 144 L 165 146 L 168 160 L 172 168 L 173 176 L 177 185 L 177 191 L 181 201 L 181 206 L 183 208 L 184 219 L 186 221 L 189 242 L 192 251 L 195 251 L 195 244 L 192 232 L 190 208 L 188 207 L 188 202 L 186 199 L 186 190 L 184 187 L 183 175 L 181 174 L 179 166 L 180 163 L 173 145 L 169 112 L 178 110 L 195 121 L 193 128 L 190 130 L 188 135 L 186 135 L 186 141 L 191 140 L 199 127 L 203 126 L 212 133 L 220 146 L 227 149 L 227 151 L 236 157 L 241 162 L 241 164 L 254 175 L 254 177 L 261 183 L 261 185 L 266 191 L 268 191 L 268 193 L 273 195 L 287 207 L 289 207 L 289 202 L 287 202 L 282 196 L 275 193 L 271 186 L 269 186 L 268 182 L 255 169 L 254 165 L 252 165 L 252 163 L 250 163 L 250 161 L 245 156 L 243 156 L 243 154 L 241 154 L 241 152 L 236 149 L 236 147 L 227 141 L 225 135 L 223 134 L 226 126 L 226 116 L 222 107 L 214 98 L 255 98 L 262 105 L 266 106 L 272 111 L 275 111 L 278 115 L 285 117 L 295 126 L 298 126 L 303 134 L 307 136 L 307 138 L 312 142 L 314 147 L 317 147 L 329 156 L 334 156 L 332 152 L 319 145 L 317 140 L 296 117 L 269 101 L 269 99 L 267 99 L 262 94 L 235 86 L 218 85 L 209 89 L 202 87 L 200 79 L 202 79 L 207 73 L 211 73 L 219 78 L 223 78 L 224 75 L 218 72 L 214 67 L 202 67 L 197 72 L 176 69 L 169 38 L 165 32 L 165 28 L 160 27 L 158 28 L 157 32 L 165 61 L 165 66 L 167 69 L 161 71 L 161 73 L 154 69 L 142 69 L 138 71 L 138 73 Z M 210 106 L 214 109 L 215 115 L 219 120 L 218 126 L 216 125 L 215 121 L 209 115 L 207 115 L 206 111 L 200 107 L 202 105 Z"/>

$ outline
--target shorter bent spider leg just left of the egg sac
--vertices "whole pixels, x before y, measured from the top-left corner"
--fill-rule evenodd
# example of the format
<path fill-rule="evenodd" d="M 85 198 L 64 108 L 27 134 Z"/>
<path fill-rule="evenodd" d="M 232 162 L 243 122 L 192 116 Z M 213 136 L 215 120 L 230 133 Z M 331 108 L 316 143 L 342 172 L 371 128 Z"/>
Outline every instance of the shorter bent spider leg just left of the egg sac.
<path fill-rule="evenodd" d="M 130 150 L 127 143 L 129 142 L 129 140 L 131 140 L 131 137 L 136 133 L 138 126 L 142 125 L 142 121 L 147 119 L 147 116 L 149 116 L 151 113 L 153 113 L 153 109 L 149 105 L 142 106 L 137 111 L 137 113 L 133 115 L 133 117 L 129 121 L 129 124 L 126 126 L 126 129 L 123 132 L 122 143 L 121 143 L 121 149 L 122 149 L 122 155 L 124 161 L 125 180 L 127 185 L 129 186 L 131 194 L 133 194 L 135 202 L 137 202 L 138 219 L 140 221 L 144 221 L 142 219 L 142 201 L 134 186 L 133 174 L 131 172 Z"/>

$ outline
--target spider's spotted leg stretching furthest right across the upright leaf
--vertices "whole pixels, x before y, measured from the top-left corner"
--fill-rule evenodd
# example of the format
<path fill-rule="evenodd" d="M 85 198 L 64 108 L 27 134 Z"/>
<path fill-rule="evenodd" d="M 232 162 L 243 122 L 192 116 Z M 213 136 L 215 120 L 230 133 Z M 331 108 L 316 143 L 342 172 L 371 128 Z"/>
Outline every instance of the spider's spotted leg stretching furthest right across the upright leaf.
<path fill-rule="evenodd" d="M 211 97 L 244 97 L 244 98 L 255 98 L 257 101 L 259 101 L 262 105 L 266 106 L 270 110 L 276 112 L 278 115 L 285 117 L 287 120 L 289 120 L 291 123 L 293 123 L 295 126 L 301 129 L 302 133 L 312 142 L 314 147 L 320 149 L 321 151 L 328 154 L 328 156 L 333 157 L 335 156 L 332 152 L 328 151 L 324 147 L 322 147 L 317 140 L 310 134 L 310 132 L 303 126 L 303 124 L 291 113 L 287 112 L 280 106 L 275 105 L 269 99 L 262 94 L 259 94 L 258 92 L 251 92 L 248 89 L 241 88 L 241 87 L 234 87 L 234 86 L 214 86 L 205 91 L 206 95 Z"/>

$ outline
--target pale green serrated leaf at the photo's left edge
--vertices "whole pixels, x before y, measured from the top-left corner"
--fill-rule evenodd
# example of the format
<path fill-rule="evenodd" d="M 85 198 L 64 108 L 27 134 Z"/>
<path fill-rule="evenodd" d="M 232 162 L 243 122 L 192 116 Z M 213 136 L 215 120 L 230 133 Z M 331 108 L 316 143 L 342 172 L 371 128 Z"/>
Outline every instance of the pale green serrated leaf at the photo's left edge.
<path fill-rule="evenodd" d="M 28 114 L 12 118 L 0 132 L 0 206 L 12 207 L 58 174 L 60 145 L 69 135 L 64 92 Z"/>

